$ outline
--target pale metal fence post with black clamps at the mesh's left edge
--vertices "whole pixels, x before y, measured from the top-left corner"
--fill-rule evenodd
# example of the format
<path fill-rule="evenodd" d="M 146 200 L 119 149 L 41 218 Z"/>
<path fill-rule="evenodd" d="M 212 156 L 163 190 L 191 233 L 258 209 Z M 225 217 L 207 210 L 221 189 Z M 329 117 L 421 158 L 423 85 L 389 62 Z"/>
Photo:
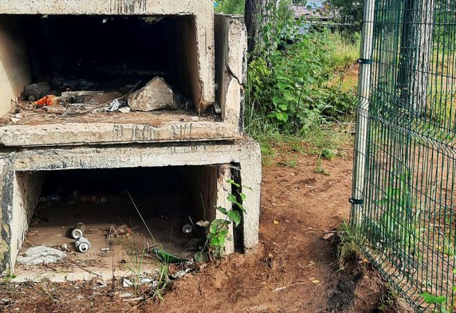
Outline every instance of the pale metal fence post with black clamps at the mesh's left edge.
<path fill-rule="evenodd" d="M 363 209 L 363 194 L 365 185 L 365 164 L 367 158 L 367 133 L 368 113 L 370 102 L 370 83 L 372 70 L 372 44 L 374 41 L 374 7 L 375 0 L 364 0 L 363 6 L 363 29 L 361 33 L 361 58 L 358 99 L 359 104 L 356 114 L 356 135 L 353 168 L 352 189 L 352 225 L 361 225 Z"/>

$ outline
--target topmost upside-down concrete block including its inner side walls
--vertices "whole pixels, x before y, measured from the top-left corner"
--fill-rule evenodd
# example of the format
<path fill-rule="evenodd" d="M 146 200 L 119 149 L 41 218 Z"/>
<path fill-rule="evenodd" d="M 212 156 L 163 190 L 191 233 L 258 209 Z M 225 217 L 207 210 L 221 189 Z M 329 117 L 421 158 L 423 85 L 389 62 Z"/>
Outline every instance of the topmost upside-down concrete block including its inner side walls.
<path fill-rule="evenodd" d="M 0 78 L 5 88 L 0 98 L 0 114 L 8 111 L 10 99 L 30 83 L 26 60 L 24 15 L 149 15 L 190 17 L 174 34 L 183 49 L 183 72 L 190 78 L 197 111 L 205 111 L 214 98 L 214 8 L 211 1 L 187 0 L 4 0 L 0 2 Z M 12 16 L 5 16 L 12 15 Z M 22 15 L 22 16 L 17 16 Z M 5 42 L 7 44 L 5 44 Z M 25 57 L 25 58 L 24 58 Z M 176 64 L 179 65 L 179 64 Z M 152 77 L 151 77 L 152 78 Z M 188 81 L 185 82 L 188 84 Z M 2 86 L 2 87 L 3 87 Z"/>

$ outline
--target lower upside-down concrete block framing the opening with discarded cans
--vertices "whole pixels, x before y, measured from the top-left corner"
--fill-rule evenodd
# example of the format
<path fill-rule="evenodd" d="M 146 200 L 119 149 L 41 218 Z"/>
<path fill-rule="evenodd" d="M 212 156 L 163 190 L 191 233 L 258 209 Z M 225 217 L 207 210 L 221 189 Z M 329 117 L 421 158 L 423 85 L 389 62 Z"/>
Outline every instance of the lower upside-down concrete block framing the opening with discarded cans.
<path fill-rule="evenodd" d="M 183 165 L 213 165 L 225 169 L 217 173 L 217 206 L 229 207 L 226 197 L 230 191 L 229 164 L 239 164 L 242 183 L 252 188 L 243 190 L 247 198 L 244 207 L 244 249 L 258 242 L 259 193 L 261 187 L 261 154 L 259 145 L 248 138 L 235 142 L 204 142 L 161 144 L 156 146 L 66 147 L 55 149 L 26 149 L 0 153 L 1 227 L 0 269 L 14 261 L 21 246 L 24 225 L 28 225 L 31 209 L 41 189 L 40 171 L 64 169 L 112 169 L 131 167 L 165 167 Z M 227 164 L 227 165 L 223 165 Z M 27 172 L 27 173 L 18 173 Z M 30 176 L 30 172 L 35 174 Z M 212 174 L 211 174 L 212 175 Z M 19 179 L 17 179 L 19 178 Z M 42 180 L 41 180 L 42 181 Z M 33 186 L 30 186 L 33 184 Z M 201 187 L 201 186 L 200 186 Z M 212 202 L 214 200 L 208 200 Z M 217 216 L 217 215 L 216 215 Z M 232 234 L 232 233 L 231 233 Z M 1 254 L 3 249 L 3 254 Z M 232 243 L 226 251 L 232 252 Z M 7 251 L 5 251 L 7 250 Z"/>

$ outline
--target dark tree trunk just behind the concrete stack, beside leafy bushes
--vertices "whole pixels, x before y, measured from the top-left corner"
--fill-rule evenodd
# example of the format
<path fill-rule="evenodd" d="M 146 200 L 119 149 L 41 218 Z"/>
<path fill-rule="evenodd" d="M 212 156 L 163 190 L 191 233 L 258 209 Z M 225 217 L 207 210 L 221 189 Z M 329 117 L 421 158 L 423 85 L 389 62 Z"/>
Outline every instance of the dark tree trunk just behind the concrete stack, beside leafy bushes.
<path fill-rule="evenodd" d="M 246 0 L 245 19 L 248 33 L 248 52 L 255 51 L 255 45 L 261 41 L 262 28 L 268 20 L 266 6 L 274 0 Z"/>

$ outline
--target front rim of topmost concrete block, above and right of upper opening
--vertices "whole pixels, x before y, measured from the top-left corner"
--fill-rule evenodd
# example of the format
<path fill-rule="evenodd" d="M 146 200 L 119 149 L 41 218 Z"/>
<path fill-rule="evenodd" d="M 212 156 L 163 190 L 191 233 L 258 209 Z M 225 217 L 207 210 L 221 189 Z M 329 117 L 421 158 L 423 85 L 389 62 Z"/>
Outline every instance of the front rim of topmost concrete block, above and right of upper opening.
<path fill-rule="evenodd" d="M 0 14 L 8 15 L 192 15 L 196 34 L 201 111 L 215 101 L 214 5 L 212 1 L 175 0 L 2 0 Z M 3 19 L 3 17 L 2 17 Z M 5 46 L 0 41 L 0 46 Z M 1 116 L 1 115 L 0 115 Z"/>

